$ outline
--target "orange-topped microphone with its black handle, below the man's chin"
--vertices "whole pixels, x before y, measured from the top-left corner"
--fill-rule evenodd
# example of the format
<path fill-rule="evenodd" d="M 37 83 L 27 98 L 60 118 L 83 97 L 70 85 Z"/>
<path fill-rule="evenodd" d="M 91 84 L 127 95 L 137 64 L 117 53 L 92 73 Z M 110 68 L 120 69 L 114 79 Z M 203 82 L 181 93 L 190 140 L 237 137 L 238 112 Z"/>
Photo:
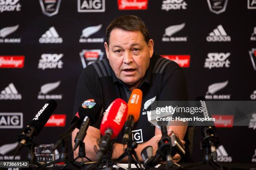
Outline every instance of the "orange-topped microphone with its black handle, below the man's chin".
<path fill-rule="evenodd" d="M 125 123 L 123 143 L 127 143 L 134 123 L 138 121 L 141 113 L 142 91 L 140 89 L 134 89 L 128 100 L 128 113 L 127 121 Z"/>

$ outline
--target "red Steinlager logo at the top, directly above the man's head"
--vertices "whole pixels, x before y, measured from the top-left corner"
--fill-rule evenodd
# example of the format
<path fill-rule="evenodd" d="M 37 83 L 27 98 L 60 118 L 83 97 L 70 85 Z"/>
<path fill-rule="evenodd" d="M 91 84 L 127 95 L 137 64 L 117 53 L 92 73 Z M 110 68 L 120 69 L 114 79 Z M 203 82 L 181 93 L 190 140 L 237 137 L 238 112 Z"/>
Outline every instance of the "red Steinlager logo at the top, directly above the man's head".
<path fill-rule="evenodd" d="M 146 10 L 148 0 L 118 0 L 118 10 Z"/>

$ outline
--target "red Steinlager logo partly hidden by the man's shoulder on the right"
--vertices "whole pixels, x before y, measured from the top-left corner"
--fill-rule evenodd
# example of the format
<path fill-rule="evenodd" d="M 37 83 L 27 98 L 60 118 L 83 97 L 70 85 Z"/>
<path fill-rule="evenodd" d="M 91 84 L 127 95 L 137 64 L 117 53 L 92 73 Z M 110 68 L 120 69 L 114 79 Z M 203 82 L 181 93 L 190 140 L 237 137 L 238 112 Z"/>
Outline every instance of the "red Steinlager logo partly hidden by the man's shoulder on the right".
<path fill-rule="evenodd" d="M 162 57 L 176 62 L 179 67 L 189 67 L 190 55 L 161 55 Z"/>

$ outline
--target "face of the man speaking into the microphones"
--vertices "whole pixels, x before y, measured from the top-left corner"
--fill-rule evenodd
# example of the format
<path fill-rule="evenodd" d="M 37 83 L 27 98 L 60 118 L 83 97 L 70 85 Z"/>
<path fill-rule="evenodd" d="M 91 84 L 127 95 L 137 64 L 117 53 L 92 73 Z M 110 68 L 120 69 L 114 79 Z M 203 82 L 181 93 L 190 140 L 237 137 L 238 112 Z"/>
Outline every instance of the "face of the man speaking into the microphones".
<path fill-rule="evenodd" d="M 128 85 L 142 80 L 153 55 L 153 46 L 153 40 L 146 43 L 139 31 L 113 29 L 109 46 L 105 42 L 105 50 L 116 77 Z"/>

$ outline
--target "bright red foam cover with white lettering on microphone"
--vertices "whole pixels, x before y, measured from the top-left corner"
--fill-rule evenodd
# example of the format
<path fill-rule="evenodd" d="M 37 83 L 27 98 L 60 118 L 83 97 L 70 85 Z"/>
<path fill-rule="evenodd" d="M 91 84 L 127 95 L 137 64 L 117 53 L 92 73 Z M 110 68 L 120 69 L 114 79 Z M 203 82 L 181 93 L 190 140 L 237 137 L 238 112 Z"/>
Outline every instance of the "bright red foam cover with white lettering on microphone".
<path fill-rule="evenodd" d="M 100 125 L 101 135 L 105 135 L 105 130 L 110 128 L 113 132 L 111 139 L 114 139 L 118 136 L 126 121 L 128 110 L 127 107 L 127 103 L 120 98 L 115 99 L 108 106 Z"/>

